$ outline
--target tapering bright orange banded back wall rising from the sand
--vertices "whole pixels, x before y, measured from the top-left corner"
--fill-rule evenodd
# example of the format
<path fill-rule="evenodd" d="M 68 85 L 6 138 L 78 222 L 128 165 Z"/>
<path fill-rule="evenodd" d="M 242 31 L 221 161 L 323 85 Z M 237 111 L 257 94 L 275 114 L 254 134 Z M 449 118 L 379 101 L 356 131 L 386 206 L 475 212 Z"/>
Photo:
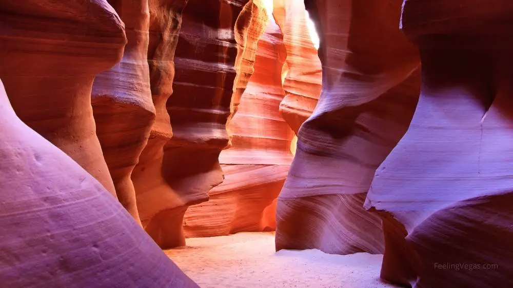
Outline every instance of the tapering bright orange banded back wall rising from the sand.
<path fill-rule="evenodd" d="M 275 229 L 275 199 L 292 161 L 294 135 L 279 113 L 285 56 L 283 36 L 271 20 L 239 111 L 227 126 L 231 147 L 219 157 L 225 180 L 210 191 L 208 202 L 189 207 L 186 237 Z"/>

